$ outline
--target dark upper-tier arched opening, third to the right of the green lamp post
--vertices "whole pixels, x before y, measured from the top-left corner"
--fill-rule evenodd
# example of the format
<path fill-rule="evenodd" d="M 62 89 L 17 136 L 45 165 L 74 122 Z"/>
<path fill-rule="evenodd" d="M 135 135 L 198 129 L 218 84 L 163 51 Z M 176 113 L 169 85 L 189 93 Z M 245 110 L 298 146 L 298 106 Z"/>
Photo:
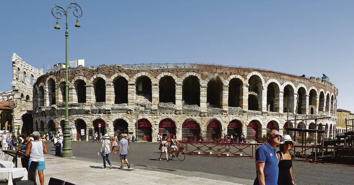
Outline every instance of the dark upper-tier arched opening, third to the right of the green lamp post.
<path fill-rule="evenodd" d="M 128 103 L 128 81 L 120 77 L 114 81 L 114 104 Z"/>

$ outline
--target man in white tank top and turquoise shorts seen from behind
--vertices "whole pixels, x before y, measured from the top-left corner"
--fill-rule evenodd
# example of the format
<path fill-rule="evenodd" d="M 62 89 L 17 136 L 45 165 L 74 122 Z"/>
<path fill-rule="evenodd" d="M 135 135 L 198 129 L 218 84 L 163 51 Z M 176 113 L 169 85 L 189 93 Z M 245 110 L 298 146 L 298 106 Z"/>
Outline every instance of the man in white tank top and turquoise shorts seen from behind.
<path fill-rule="evenodd" d="M 44 154 L 48 153 L 47 147 L 44 142 L 39 141 L 39 132 L 34 131 L 32 133 L 34 141 L 30 142 L 26 149 L 26 155 L 29 155 L 28 167 L 31 165 L 32 161 L 38 162 L 38 175 L 41 185 L 44 185 L 44 174 L 45 162 Z"/>

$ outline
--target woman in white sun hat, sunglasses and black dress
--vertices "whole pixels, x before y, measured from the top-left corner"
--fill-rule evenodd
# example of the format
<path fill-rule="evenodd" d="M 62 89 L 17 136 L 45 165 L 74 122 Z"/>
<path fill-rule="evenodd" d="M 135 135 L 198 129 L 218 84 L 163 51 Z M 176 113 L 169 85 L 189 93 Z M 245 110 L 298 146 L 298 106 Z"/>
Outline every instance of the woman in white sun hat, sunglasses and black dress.
<path fill-rule="evenodd" d="M 278 156 L 278 184 L 282 185 L 293 185 L 294 177 L 292 173 L 292 161 L 290 155 L 290 149 L 296 144 L 295 141 L 291 140 L 290 135 L 284 135 L 281 137 L 281 142 L 279 143 L 279 151 L 276 152 Z"/>

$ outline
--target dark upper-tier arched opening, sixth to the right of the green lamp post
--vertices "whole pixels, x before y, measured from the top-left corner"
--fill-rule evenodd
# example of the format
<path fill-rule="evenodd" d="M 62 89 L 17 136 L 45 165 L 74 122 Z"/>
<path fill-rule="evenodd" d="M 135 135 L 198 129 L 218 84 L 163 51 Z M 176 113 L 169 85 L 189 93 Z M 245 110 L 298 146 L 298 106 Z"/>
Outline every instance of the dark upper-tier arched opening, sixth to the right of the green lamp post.
<path fill-rule="evenodd" d="M 183 80 L 182 103 L 200 106 L 200 84 L 196 76 L 188 76 Z"/>

